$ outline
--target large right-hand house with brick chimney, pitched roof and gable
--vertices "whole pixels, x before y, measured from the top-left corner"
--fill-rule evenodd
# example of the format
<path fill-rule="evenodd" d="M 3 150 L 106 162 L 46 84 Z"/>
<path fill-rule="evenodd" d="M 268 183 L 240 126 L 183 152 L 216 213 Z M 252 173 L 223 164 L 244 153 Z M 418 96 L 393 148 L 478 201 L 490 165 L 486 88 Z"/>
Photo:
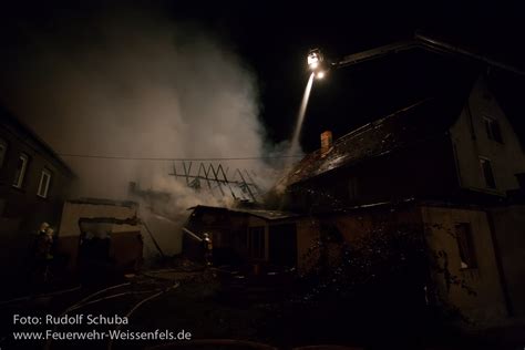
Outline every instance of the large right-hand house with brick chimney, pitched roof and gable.
<path fill-rule="evenodd" d="M 480 326 L 525 316 L 525 154 L 483 78 L 467 96 L 424 100 L 330 141 L 284 179 L 288 208 L 347 241 L 379 217 L 419 224 L 457 281 L 433 274 L 443 300 Z"/>

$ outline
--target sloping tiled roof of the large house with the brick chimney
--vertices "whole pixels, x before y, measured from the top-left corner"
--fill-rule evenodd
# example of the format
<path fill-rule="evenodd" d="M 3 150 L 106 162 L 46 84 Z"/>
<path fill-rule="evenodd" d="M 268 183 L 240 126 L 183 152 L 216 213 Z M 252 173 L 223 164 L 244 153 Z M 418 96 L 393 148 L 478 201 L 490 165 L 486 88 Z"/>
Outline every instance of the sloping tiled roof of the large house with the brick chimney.
<path fill-rule="evenodd" d="M 459 117 L 464 101 L 464 96 L 425 99 L 358 127 L 334 141 L 327 152 L 317 150 L 305 156 L 282 183 L 289 186 L 342 166 L 444 135 Z"/>

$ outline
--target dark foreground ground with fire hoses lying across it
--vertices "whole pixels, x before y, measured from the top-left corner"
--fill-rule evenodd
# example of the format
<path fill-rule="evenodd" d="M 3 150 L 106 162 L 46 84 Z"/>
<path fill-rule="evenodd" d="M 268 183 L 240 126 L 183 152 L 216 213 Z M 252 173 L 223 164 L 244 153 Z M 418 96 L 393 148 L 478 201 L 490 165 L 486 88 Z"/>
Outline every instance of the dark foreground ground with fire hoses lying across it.
<path fill-rule="evenodd" d="M 234 339 L 269 344 L 279 349 L 320 343 L 366 349 L 398 348 L 397 346 L 384 347 L 390 340 L 392 343 L 399 344 L 399 342 L 381 331 L 380 326 L 377 328 L 377 339 L 373 341 L 367 339 L 369 336 L 363 336 L 362 329 L 352 321 L 352 312 L 341 305 L 328 301 L 301 302 L 292 295 L 276 295 L 268 292 L 269 289 L 256 288 L 253 285 L 236 291 L 230 286 L 226 288 L 227 285 L 231 285 L 231 281 L 225 280 L 223 275 L 222 270 L 213 268 L 203 270 L 157 269 L 127 276 L 127 279 L 119 281 L 120 286 L 97 292 L 95 296 L 93 292 L 101 289 L 100 287 L 96 290 L 76 288 L 3 303 L 0 305 L 4 326 L 0 347 L 2 349 L 71 349 L 73 346 L 72 342 L 65 340 L 51 342 L 13 340 L 11 336 L 13 330 L 38 331 L 42 329 L 38 326 L 19 326 L 13 329 L 10 318 L 14 313 L 60 316 L 66 311 L 65 313 L 69 316 L 76 313 L 124 316 L 145 300 L 130 315 L 130 325 L 96 326 L 95 328 L 100 331 L 117 328 L 128 331 L 155 331 L 156 329 L 169 330 L 175 333 L 184 331 L 184 333 L 189 332 L 191 338 L 198 341 Z M 90 295 L 92 297 L 85 299 Z M 72 308 L 74 306 L 76 309 Z M 381 325 L 381 320 L 377 321 L 378 325 Z M 391 323 L 391 326 L 395 328 L 395 325 Z M 92 328 L 93 326 L 59 326 L 55 330 L 90 331 Z M 519 334 L 521 331 L 523 329 L 512 331 L 513 337 Z M 494 348 L 493 341 L 502 332 L 494 333 L 492 338 L 476 340 L 450 333 L 449 341 L 436 341 L 433 346 L 430 343 L 423 346 L 416 342 L 409 342 L 409 344 L 413 346 L 413 349 L 423 349 L 423 347 L 424 349 L 490 349 Z M 455 340 L 452 337 L 455 337 Z M 523 341 L 523 337 L 513 339 L 513 342 L 508 344 L 498 343 L 497 348 L 522 349 L 516 348 L 519 341 Z M 74 349 L 144 349 L 161 343 L 163 342 L 96 340 L 75 343 Z M 182 342 L 177 343 L 183 344 Z M 455 343 L 455 346 L 451 346 L 451 343 Z M 188 344 L 183 344 L 182 348 L 189 348 Z M 192 347 L 192 349 L 243 348 L 246 346 L 196 347 L 194 344 Z"/>

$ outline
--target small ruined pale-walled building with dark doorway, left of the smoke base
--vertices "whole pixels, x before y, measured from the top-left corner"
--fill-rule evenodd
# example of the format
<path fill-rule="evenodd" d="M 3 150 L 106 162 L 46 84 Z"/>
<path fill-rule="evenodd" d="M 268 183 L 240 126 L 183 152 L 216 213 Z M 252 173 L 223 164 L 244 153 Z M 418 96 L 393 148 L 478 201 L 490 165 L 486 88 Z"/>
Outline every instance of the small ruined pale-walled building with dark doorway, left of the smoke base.
<path fill-rule="evenodd" d="M 102 272 L 135 271 L 143 260 L 138 204 L 84 198 L 63 205 L 56 253 L 70 271 L 90 266 Z"/>

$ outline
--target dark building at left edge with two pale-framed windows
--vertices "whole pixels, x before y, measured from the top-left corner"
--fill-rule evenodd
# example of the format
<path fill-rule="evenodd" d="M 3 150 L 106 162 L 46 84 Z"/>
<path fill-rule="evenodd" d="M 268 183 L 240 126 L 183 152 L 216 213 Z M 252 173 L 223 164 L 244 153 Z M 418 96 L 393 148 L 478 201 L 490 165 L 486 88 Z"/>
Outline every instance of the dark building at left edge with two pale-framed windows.
<path fill-rule="evenodd" d="M 52 226 L 74 175 L 28 126 L 0 110 L 0 240 L 2 271 L 19 275 L 40 223 Z M 9 267 L 9 270 L 6 269 Z"/>

